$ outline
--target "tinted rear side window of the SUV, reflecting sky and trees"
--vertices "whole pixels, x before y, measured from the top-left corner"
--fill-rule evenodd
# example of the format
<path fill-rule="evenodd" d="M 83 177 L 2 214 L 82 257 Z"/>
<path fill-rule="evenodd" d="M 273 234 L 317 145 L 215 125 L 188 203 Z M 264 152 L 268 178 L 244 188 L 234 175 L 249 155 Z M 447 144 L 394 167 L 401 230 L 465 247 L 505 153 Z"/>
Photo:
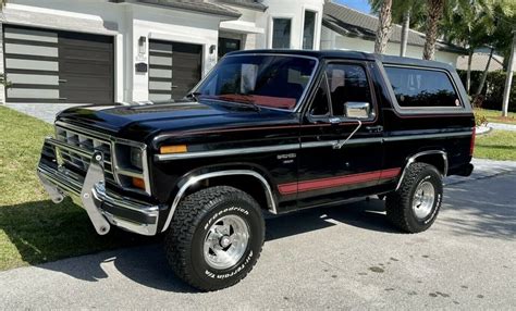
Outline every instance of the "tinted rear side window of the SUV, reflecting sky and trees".
<path fill-rule="evenodd" d="M 460 107 L 450 76 L 442 71 L 385 67 L 402 108 Z"/>

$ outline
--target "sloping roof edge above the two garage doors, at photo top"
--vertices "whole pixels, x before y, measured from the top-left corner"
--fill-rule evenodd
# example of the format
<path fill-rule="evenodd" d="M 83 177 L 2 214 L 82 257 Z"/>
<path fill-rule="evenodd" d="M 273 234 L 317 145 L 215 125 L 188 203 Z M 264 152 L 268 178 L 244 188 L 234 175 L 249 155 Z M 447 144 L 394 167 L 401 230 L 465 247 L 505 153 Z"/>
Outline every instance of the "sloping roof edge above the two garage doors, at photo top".
<path fill-rule="evenodd" d="M 121 3 L 140 3 L 159 5 L 169 9 L 181 9 L 194 12 L 208 13 L 213 15 L 226 16 L 226 17 L 239 17 L 242 14 L 228 7 L 219 5 L 204 0 L 111 0 L 112 2 Z M 243 1 L 243 0 L 242 0 Z"/>

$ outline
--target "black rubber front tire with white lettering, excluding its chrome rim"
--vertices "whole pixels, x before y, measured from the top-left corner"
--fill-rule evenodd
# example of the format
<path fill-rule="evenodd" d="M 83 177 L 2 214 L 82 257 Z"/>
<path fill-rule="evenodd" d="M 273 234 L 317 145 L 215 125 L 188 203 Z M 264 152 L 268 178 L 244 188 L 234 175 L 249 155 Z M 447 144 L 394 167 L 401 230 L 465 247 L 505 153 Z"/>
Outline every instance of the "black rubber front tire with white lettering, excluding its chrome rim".
<path fill-rule="evenodd" d="M 242 226 L 248 229 L 247 246 L 235 264 L 218 269 L 205 254 L 205 241 L 213 234 L 213 225 L 228 217 L 243 221 Z M 164 248 L 175 275 L 199 290 L 212 291 L 238 283 L 253 270 L 263 239 L 265 221 L 256 200 L 236 188 L 216 186 L 194 192 L 179 204 Z"/>

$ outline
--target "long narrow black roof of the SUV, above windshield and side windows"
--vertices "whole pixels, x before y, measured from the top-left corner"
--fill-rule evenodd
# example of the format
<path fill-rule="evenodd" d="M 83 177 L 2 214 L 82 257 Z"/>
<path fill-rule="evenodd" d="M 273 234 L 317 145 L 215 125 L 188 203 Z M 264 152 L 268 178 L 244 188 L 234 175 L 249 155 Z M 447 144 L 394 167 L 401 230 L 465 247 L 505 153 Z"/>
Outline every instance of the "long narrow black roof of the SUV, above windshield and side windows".
<path fill-rule="evenodd" d="M 261 49 L 261 50 L 241 50 L 230 52 L 226 55 L 245 55 L 245 54 L 280 54 L 291 57 L 309 57 L 316 59 L 346 59 L 346 60 L 363 60 L 363 61 L 379 61 L 384 64 L 400 64 L 400 65 L 411 65 L 419 67 L 432 67 L 443 69 L 446 71 L 454 72 L 455 69 L 450 64 L 427 61 L 413 58 L 402 58 L 394 55 L 383 55 L 376 53 L 366 53 L 359 51 L 344 51 L 344 50 L 290 50 L 290 49 Z"/>

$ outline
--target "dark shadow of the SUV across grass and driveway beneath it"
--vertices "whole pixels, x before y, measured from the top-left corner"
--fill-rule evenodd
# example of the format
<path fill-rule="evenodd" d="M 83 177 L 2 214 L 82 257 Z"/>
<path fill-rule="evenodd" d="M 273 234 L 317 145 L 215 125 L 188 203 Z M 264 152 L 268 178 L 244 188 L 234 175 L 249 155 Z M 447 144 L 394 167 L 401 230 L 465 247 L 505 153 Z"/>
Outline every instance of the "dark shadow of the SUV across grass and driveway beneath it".
<path fill-rule="evenodd" d="M 123 275 L 135 283 L 165 291 L 195 293 L 171 272 L 163 248 L 162 237 L 147 238 L 113 228 L 107 236 L 98 236 L 91 227 L 86 213 L 73 206 L 54 206 L 50 201 L 29 202 L 3 207 L 5 226 L 2 229 L 16 246 L 24 261 L 41 262 L 52 260 L 54 253 L 72 256 L 95 251 L 93 245 L 115 250 L 69 258 L 37 264 L 40 269 L 61 272 L 86 282 L 98 282 L 107 277 Z M 381 213 L 384 202 L 380 200 L 360 201 L 346 207 L 319 208 L 282 216 L 268 216 L 266 220 L 267 240 L 288 238 L 293 235 L 323 229 L 342 223 L 380 233 L 396 233 Z M 38 226 L 16 226 L 10 213 L 22 213 L 37 217 Z M 69 214 L 72 213 L 72 214 Z M 70 229 L 70 226 L 73 229 Z M 63 229 L 66 228 L 66 229 Z M 72 244 L 66 236 L 73 235 Z M 128 248 L 127 248 L 128 247 Z M 66 252 L 67 250 L 67 252 Z"/>

